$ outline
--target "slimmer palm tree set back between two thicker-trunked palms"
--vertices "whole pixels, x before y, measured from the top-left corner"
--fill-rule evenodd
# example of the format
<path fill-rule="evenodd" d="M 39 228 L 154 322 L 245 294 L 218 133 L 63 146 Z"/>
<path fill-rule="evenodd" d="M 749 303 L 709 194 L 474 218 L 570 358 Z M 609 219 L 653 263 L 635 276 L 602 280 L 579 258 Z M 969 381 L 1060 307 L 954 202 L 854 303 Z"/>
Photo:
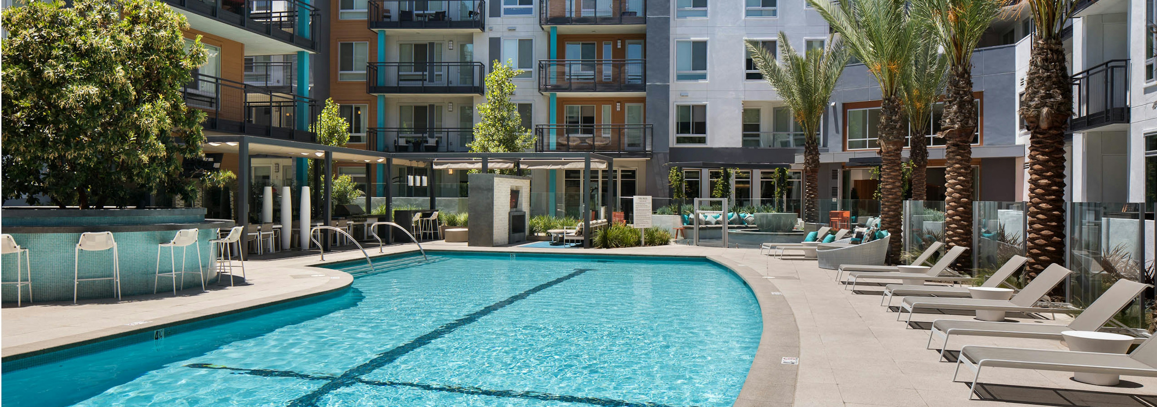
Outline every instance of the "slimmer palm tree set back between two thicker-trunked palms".
<path fill-rule="evenodd" d="M 912 52 L 912 69 L 904 75 L 904 111 L 908 113 L 909 138 L 908 155 L 912 160 L 912 199 L 922 201 L 928 197 L 928 138 L 926 135 L 931 116 L 933 104 L 939 99 L 944 90 L 944 73 L 948 71 L 948 58 L 939 53 L 938 46 L 923 40 Z"/>

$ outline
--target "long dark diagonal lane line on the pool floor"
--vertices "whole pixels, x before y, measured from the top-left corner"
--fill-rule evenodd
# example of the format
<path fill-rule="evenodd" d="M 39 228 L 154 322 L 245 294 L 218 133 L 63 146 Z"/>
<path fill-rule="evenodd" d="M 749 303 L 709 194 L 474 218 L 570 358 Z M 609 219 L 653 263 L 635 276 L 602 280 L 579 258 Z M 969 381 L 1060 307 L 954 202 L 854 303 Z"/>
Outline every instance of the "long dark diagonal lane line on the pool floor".
<path fill-rule="evenodd" d="M 536 287 L 533 287 L 533 288 L 531 288 L 529 290 L 515 294 L 514 296 L 510 296 L 509 298 L 506 298 L 503 301 L 500 301 L 500 302 L 496 302 L 494 304 L 491 304 L 491 305 L 488 305 L 488 306 L 486 306 L 486 308 L 484 308 L 481 310 L 474 311 L 474 312 L 472 312 L 472 313 L 470 313 L 470 314 L 467 314 L 465 317 L 458 318 L 458 319 L 456 319 L 456 320 L 454 320 L 454 321 L 451 321 L 449 324 L 442 325 L 442 326 L 437 327 L 436 330 L 430 331 L 430 332 L 428 332 L 428 333 L 426 333 L 426 334 L 423 334 L 421 336 L 418 336 L 418 338 L 415 338 L 414 340 L 412 340 L 410 342 L 403 343 L 401 346 L 399 346 L 397 348 L 393 348 L 393 349 L 386 350 L 384 353 L 377 354 L 377 356 L 375 356 L 374 358 L 367 361 L 366 363 L 359 364 L 359 365 L 354 367 L 353 369 L 346 370 L 346 372 L 341 373 L 341 376 L 338 376 L 338 377 L 333 378 L 332 380 L 330 380 L 325 385 L 318 387 L 317 390 L 315 390 L 315 391 L 312 391 L 312 392 L 310 392 L 310 393 L 308 393 L 305 395 L 302 395 L 302 397 L 300 397 L 297 399 L 294 399 L 293 401 L 289 402 L 289 407 L 314 407 L 314 406 L 317 406 L 317 401 L 320 400 L 320 398 L 324 397 L 325 394 L 329 394 L 330 392 L 333 392 L 333 391 L 336 391 L 338 388 L 356 384 L 356 383 L 360 382 L 360 379 L 361 379 L 362 376 L 369 375 L 370 372 L 373 372 L 373 371 L 375 371 L 377 369 L 381 369 L 382 367 L 384 367 L 386 364 L 393 363 L 393 361 L 397 361 L 399 357 L 405 356 L 406 354 L 408 354 L 411 352 L 418 350 L 419 348 L 429 345 L 430 342 L 437 340 L 439 338 L 445 336 L 447 334 L 450 334 L 451 332 L 457 331 L 458 328 L 460 328 L 463 326 L 473 324 L 473 323 L 478 321 L 478 319 L 480 319 L 480 318 L 482 318 L 485 316 L 488 316 L 488 314 L 493 313 L 494 311 L 501 310 L 501 309 L 506 308 L 507 305 L 510 305 L 510 304 L 514 304 L 514 303 L 516 303 L 516 302 L 518 302 L 521 299 L 524 299 L 524 298 L 531 296 L 535 293 L 538 293 L 538 291 L 545 290 L 547 288 L 554 287 L 554 286 L 557 286 L 557 284 L 559 284 L 559 283 L 561 283 L 563 281 L 574 279 L 574 278 L 576 278 L 578 275 L 582 275 L 583 273 L 587 273 L 587 272 L 590 272 L 590 271 L 592 271 L 592 268 L 576 268 L 570 274 L 567 274 L 567 275 L 563 275 L 561 278 L 558 278 L 558 279 L 544 282 L 544 283 L 538 284 L 538 286 L 536 286 Z"/>

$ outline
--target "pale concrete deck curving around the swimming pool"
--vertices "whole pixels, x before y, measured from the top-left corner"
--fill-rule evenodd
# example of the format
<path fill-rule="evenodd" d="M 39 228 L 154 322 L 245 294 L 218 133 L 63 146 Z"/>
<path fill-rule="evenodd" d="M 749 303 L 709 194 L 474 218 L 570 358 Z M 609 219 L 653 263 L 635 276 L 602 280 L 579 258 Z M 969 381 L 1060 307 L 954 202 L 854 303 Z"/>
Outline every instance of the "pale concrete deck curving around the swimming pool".
<path fill-rule="evenodd" d="M 692 247 L 668 245 L 659 247 L 594 249 L 535 249 L 535 247 L 467 247 L 464 244 L 430 242 L 427 250 L 466 250 L 533 253 L 591 253 L 626 256 L 694 256 L 708 257 L 735 269 L 756 291 L 764 316 L 764 339 L 756 361 L 735 406 L 766 407 L 955 407 L 998 405 L 1053 405 L 1093 407 L 1152 407 L 1157 405 L 1157 378 L 1122 377 L 1122 385 L 1114 387 L 1086 385 L 1069 379 L 1071 373 L 992 369 L 985 370 L 978 387 L 996 399 L 968 400 L 967 384 L 952 383 L 956 363 L 937 362 L 936 350 L 924 349 L 927 330 L 906 328 L 896 320 L 894 312 L 879 306 L 877 295 L 853 294 L 834 282 L 834 271 L 818 268 L 815 260 L 774 259 L 759 254 L 754 249 Z M 415 251 L 413 245 L 384 247 L 385 253 Z M 377 249 L 369 250 L 377 256 Z M 326 262 L 358 260 L 361 252 L 326 253 Z M 268 261 L 246 261 L 251 286 L 206 294 L 133 297 L 121 304 L 84 303 L 36 304 L 2 311 L 3 355 L 29 349 L 37 343 L 67 342 L 79 334 L 93 335 L 108 330 L 124 330 L 121 320 L 146 320 L 123 314 L 118 305 L 133 304 L 138 312 L 150 312 L 148 320 L 206 314 L 216 308 L 250 304 L 255 297 L 273 298 L 320 286 L 339 284 L 344 279 L 293 278 L 320 274 L 316 252 L 310 257 Z M 260 269 L 258 274 L 253 271 Z M 326 273 L 337 271 L 324 269 Z M 327 274 L 329 275 L 329 274 Z M 348 275 L 346 275 L 348 278 Z M 301 283 L 309 287 L 275 287 Z M 317 284 L 310 286 L 310 284 Z M 348 284 L 346 282 L 345 284 Z M 329 286 L 326 286 L 329 287 Z M 864 291 L 876 288 L 864 287 Z M 252 293 L 268 290 L 265 295 Z M 235 293 L 219 295 L 218 293 Z M 199 291 L 196 291 L 199 293 Z M 320 293 L 320 291 L 319 291 Z M 186 294 L 190 291 L 186 289 Z M 212 296 L 212 297 L 211 297 Z M 201 298 L 204 297 L 204 298 Z M 248 297 L 248 298 L 246 298 Z M 189 303 L 183 303 L 189 302 Z M 208 304 L 212 303 L 212 304 Z M 183 309 L 184 306 L 190 306 Z M 250 305 L 251 306 L 251 305 Z M 239 309 L 239 308 L 238 308 Z M 75 312 L 74 312 L 75 311 Z M 139 313 L 138 313 L 139 314 Z M 42 318 L 43 317 L 43 318 Z M 970 319 L 971 316 L 916 313 L 914 320 L 931 321 L 937 318 Z M 1064 317 L 1062 317 L 1064 318 Z M 1024 320 L 1031 324 L 1031 320 Z M 1057 321 L 1063 324 L 1064 321 Z M 76 332 L 82 328 L 83 332 Z M 15 340 L 16 343 L 12 343 Z M 935 345 L 935 343 L 934 343 Z M 952 349 L 963 345 L 1015 346 L 1041 349 L 1067 349 L 1060 341 L 972 336 L 953 340 Z M 23 350 L 28 352 L 28 350 Z M 782 357 L 798 357 L 799 364 L 783 364 Z"/>

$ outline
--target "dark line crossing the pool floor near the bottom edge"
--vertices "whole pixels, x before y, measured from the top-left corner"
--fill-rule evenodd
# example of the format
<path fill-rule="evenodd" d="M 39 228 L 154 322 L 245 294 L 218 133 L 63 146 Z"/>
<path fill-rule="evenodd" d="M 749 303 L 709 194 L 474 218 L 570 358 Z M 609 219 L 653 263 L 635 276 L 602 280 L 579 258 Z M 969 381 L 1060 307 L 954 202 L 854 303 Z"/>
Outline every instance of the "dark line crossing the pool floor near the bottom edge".
<path fill-rule="evenodd" d="M 264 376 L 264 377 L 294 377 L 305 380 L 333 380 L 338 377 L 325 376 L 325 375 L 304 375 L 294 371 L 285 370 L 271 370 L 271 369 L 239 369 L 229 368 L 208 363 L 193 363 L 186 364 L 186 368 L 198 368 L 198 369 L 220 369 L 230 370 L 238 373 Z M 458 393 L 458 394 L 471 394 L 471 395 L 489 395 L 510 399 L 531 399 L 531 400 L 544 400 L 544 401 L 562 401 L 562 402 L 581 402 L 592 406 L 602 407 L 676 407 L 671 405 L 664 405 L 658 402 L 631 402 L 625 400 L 597 398 L 597 397 L 577 397 L 567 394 L 552 394 L 544 392 L 528 392 L 528 391 L 515 391 L 515 390 L 488 390 L 474 386 L 455 386 L 455 385 L 440 385 L 440 384 L 423 384 L 423 383 L 410 383 L 410 382 L 391 382 L 391 380 L 368 380 L 363 378 L 356 378 L 356 384 L 364 384 L 370 386 L 383 386 L 383 387 L 411 387 L 420 388 L 432 392 L 445 392 L 445 393 Z"/>

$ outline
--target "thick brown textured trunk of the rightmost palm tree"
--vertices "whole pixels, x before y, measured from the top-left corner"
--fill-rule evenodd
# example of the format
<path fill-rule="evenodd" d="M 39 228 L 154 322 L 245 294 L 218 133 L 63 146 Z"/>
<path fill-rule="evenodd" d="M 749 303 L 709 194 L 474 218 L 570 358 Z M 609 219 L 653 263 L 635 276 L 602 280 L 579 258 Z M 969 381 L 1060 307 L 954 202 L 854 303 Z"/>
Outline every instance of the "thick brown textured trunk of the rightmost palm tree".
<path fill-rule="evenodd" d="M 1026 240 L 1031 281 L 1051 264 L 1064 265 L 1064 128 L 1073 116 L 1073 84 L 1059 38 L 1038 39 L 1032 46 L 1020 116 L 1031 134 Z"/>

